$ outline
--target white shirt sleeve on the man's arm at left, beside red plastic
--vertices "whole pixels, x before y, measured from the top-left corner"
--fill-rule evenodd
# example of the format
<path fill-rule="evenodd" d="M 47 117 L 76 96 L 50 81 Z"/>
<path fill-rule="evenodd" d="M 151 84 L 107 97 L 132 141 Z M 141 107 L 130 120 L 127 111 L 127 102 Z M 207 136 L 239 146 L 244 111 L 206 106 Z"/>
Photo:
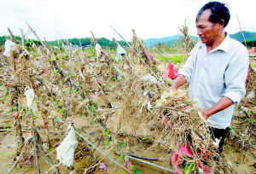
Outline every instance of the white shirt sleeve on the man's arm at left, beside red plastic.
<path fill-rule="evenodd" d="M 196 60 L 196 51 L 197 45 L 195 45 L 194 49 L 191 50 L 189 58 L 182 68 L 178 70 L 178 74 L 183 75 L 186 78 L 186 83 L 189 84 Z"/>

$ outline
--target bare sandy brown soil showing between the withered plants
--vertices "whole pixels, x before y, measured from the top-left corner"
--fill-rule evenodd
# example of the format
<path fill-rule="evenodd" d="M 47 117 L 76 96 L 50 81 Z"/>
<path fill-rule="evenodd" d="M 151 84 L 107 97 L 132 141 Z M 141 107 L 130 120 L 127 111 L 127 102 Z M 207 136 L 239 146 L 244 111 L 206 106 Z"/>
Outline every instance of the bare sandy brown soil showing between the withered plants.
<path fill-rule="evenodd" d="M 146 67 L 136 67 L 136 70 L 145 71 Z M 165 71 L 166 63 L 160 64 L 160 71 Z M 170 83 L 172 80 L 168 79 Z M 64 83 L 65 84 L 65 83 Z M 116 84 L 119 85 L 119 84 Z M 9 108 L 6 107 L 7 103 L 5 98 L 6 88 L 4 86 L 0 87 L 0 173 L 8 173 L 9 169 L 14 164 L 15 153 L 17 148 L 17 142 L 15 140 L 15 131 L 13 131 L 14 119 L 10 117 Z M 168 150 L 168 147 L 160 146 L 158 143 L 154 144 L 153 142 L 143 141 L 141 137 L 145 138 L 150 132 L 150 136 L 158 137 L 158 131 L 152 131 L 148 128 L 148 123 L 140 122 L 140 119 L 127 119 L 125 118 L 125 110 L 122 108 L 118 98 L 118 94 L 113 92 L 106 93 L 105 96 L 95 96 L 94 102 L 99 104 L 97 108 L 98 118 L 95 123 L 92 123 L 91 117 L 87 116 L 84 113 L 77 113 L 70 116 L 67 119 L 67 122 L 73 122 L 74 127 L 77 131 L 80 132 L 82 136 L 92 142 L 97 148 L 102 149 L 109 157 L 119 162 L 119 164 L 125 166 L 125 161 L 122 159 L 122 155 L 119 152 L 125 152 L 127 154 L 134 154 L 137 156 L 142 156 L 148 159 L 158 159 L 157 161 L 151 161 L 155 165 L 160 165 L 162 167 L 174 170 L 172 165 L 170 165 L 170 159 L 172 157 L 172 151 Z M 128 96 L 127 96 L 128 97 Z M 113 107 L 108 109 L 101 110 L 101 107 L 108 106 L 110 102 Z M 25 102 L 25 98 L 20 98 L 20 101 Z M 86 102 L 84 102 L 86 105 Z M 81 107 L 83 107 L 82 105 Z M 255 109 L 255 106 L 249 104 L 248 108 Z M 51 111 L 52 112 L 52 111 Z M 240 114 L 240 110 L 236 108 L 236 114 Z M 142 117 L 142 116 L 137 116 Z M 102 121 L 103 120 L 103 121 Z M 122 121 L 125 120 L 125 121 Z M 237 120 L 236 120 L 237 121 Z M 236 124 L 236 123 L 235 123 Z M 38 132 L 41 136 L 42 144 L 46 142 L 47 137 L 44 133 L 44 122 L 43 119 L 37 119 L 35 125 L 38 127 Z M 94 126 L 91 126 L 94 125 Z M 121 126 L 122 125 L 122 126 Z M 137 125 L 136 127 L 134 125 Z M 61 123 L 56 122 L 49 123 L 49 140 L 52 148 L 49 148 L 47 154 L 49 154 L 50 159 L 56 161 L 56 151 L 55 148 L 63 141 L 67 136 L 67 126 L 62 125 Z M 106 148 L 104 143 L 107 142 L 108 137 L 104 136 L 104 128 L 111 130 L 111 134 L 114 138 L 114 141 L 119 142 L 109 142 L 109 147 Z M 26 139 L 31 135 L 31 126 L 26 122 L 22 122 L 23 137 Z M 119 132 L 122 132 L 121 134 Z M 141 138 L 141 139 L 140 139 Z M 97 166 L 96 163 L 102 162 L 108 167 L 106 173 L 120 173 L 123 171 L 118 165 L 115 165 L 110 159 L 103 156 L 102 154 L 95 151 L 94 148 L 91 148 L 81 137 L 77 136 L 79 145 L 76 148 L 74 155 L 74 169 L 76 173 L 103 173 Z M 116 144 L 122 144 L 116 146 Z M 255 143 L 255 142 L 254 142 Z M 32 147 L 32 145 L 27 146 Z M 119 150 L 121 148 L 122 150 Z M 230 139 L 226 138 L 224 144 L 224 152 L 220 160 L 224 161 L 223 170 L 219 173 L 255 173 L 255 145 L 247 149 L 240 149 L 241 147 Z M 110 153 L 111 152 L 111 153 Z M 112 153 L 115 152 L 115 153 Z M 26 151 L 28 154 L 33 154 L 32 148 Z M 31 155 L 32 156 L 32 155 Z M 30 157 L 31 157 L 30 156 Z M 39 153 L 39 167 L 42 173 L 50 173 L 50 169 L 54 169 L 53 166 L 50 166 L 47 160 L 44 158 L 44 155 Z M 24 159 L 25 160 L 25 159 Z M 26 160 L 27 163 L 31 164 L 18 163 L 15 167 L 15 170 L 12 173 L 37 173 L 37 168 L 35 165 L 35 160 L 32 159 Z M 131 163 L 135 167 L 142 171 L 142 173 L 168 173 L 162 169 L 158 169 L 151 165 L 145 165 L 142 162 L 131 159 Z M 58 167 L 61 173 L 69 173 L 73 171 L 72 168 L 67 168 L 67 166 L 59 165 Z"/>

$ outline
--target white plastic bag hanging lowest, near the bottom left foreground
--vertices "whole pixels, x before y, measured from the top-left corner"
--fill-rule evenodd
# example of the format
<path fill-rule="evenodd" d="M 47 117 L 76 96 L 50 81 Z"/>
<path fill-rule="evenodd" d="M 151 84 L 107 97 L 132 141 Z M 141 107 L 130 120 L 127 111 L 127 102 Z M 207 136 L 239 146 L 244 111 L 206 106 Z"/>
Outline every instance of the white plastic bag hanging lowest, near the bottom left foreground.
<path fill-rule="evenodd" d="M 63 142 L 61 142 L 60 146 L 56 148 L 56 151 L 57 159 L 59 159 L 63 165 L 69 167 L 73 165 L 74 151 L 79 142 L 76 140 L 76 132 L 74 131 L 73 126 L 69 125 L 67 129 L 70 129 L 70 131 Z"/>

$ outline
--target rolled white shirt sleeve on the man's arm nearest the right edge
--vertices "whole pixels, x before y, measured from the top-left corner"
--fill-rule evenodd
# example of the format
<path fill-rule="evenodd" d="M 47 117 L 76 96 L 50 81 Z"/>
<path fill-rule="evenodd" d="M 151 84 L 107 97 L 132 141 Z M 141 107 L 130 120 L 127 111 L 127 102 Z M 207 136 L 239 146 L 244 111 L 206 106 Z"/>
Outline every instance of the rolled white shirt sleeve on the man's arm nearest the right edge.
<path fill-rule="evenodd" d="M 233 55 L 224 73 L 226 90 L 223 96 L 227 96 L 235 104 L 241 102 L 241 99 L 246 94 L 248 67 L 249 55 L 247 49 L 243 49 L 243 51 Z"/>

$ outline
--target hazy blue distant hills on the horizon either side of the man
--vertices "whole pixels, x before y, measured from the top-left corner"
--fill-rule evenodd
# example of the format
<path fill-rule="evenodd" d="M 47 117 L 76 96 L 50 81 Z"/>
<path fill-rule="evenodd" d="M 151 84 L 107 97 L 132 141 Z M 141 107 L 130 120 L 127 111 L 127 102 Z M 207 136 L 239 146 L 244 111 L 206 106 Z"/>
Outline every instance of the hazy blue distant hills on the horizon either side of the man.
<path fill-rule="evenodd" d="M 247 43 L 256 41 L 256 32 L 243 31 L 243 34 L 244 34 L 244 37 L 246 38 Z M 190 37 L 193 38 L 195 41 L 198 39 L 198 37 L 195 37 L 195 36 L 190 36 Z M 172 37 L 165 37 L 165 38 L 148 38 L 148 39 L 145 39 L 144 42 L 147 47 L 152 47 L 152 44 L 158 44 L 158 43 L 172 46 L 180 38 L 181 38 L 181 35 L 177 34 Z M 240 41 L 241 43 L 244 43 L 244 39 L 242 37 L 241 32 L 236 32 L 235 34 L 230 34 L 230 38 L 234 38 L 234 39 Z"/>

